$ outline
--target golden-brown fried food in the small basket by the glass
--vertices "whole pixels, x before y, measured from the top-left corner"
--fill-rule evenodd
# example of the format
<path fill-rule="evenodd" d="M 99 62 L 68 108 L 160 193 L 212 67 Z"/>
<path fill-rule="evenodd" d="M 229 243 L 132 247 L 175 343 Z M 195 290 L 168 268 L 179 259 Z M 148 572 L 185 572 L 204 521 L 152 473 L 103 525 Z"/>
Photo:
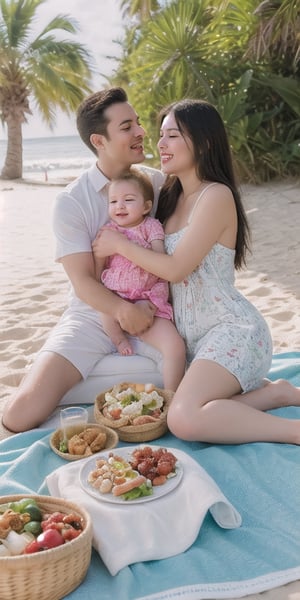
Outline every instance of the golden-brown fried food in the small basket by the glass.
<path fill-rule="evenodd" d="M 87 427 L 69 440 L 63 440 L 59 445 L 59 450 L 69 454 L 91 456 L 105 448 L 106 440 L 105 432 L 98 432 L 96 427 Z"/>

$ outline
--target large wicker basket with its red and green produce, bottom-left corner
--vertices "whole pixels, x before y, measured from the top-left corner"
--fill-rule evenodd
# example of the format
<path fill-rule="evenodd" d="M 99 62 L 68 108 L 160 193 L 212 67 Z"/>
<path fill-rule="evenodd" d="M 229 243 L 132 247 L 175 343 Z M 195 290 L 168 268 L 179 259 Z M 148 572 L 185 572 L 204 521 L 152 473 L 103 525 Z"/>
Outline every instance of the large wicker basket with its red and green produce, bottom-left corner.
<path fill-rule="evenodd" d="M 65 523 L 62 533 L 50 527 L 58 518 L 54 513 Z M 21 551 L 24 529 L 30 532 L 33 523 L 28 519 L 38 514 L 41 520 L 34 523 L 45 529 L 37 536 L 31 533 Z M 60 600 L 82 583 L 92 552 L 92 521 L 84 508 L 51 496 L 2 496 L 0 529 L 1 600 Z"/>

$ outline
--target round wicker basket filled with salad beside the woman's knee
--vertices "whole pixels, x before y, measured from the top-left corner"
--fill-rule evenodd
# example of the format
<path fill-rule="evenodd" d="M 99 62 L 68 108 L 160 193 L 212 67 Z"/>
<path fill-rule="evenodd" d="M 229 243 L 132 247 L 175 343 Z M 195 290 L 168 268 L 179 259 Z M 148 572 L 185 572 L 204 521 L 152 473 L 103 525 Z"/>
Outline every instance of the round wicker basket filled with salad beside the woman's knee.
<path fill-rule="evenodd" d="M 95 421 L 116 430 L 124 442 L 155 440 L 168 430 L 167 412 L 173 395 L 152 384 L 116 384 L 96 397 Z"/>

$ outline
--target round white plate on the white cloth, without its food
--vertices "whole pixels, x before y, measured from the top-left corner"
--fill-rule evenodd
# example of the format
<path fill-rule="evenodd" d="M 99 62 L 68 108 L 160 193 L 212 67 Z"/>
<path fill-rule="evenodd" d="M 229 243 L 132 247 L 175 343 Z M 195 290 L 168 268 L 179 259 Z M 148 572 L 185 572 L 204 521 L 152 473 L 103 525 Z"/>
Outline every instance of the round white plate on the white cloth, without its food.
<path fill-rule="evenodd" d="M 138 446 L 128 446 L 127 448 L 115 448 L 110 452 L 101 452 L 101 458 L 107 460 L 111 452 L 113 452 L 113 454 L 122 456 L 122 458 L 125 458 L 125 460 L 130 460 L 132 452 L 141 447 L 143 446 L 139 444 Z M 158 450 L 159 447 L 152 446 L 152 448 Z M 166 450 L 168 450 L 168 448 L 166 448 Z M 141 496 L 141 498 L 136 498 L 135 500 L 124 500 L 121 496 L 113 496 L 113 494 L 101 494 L 101 492 L 96 490 L 96 488 L 94 488 L 88 482 L 88 476 L 90 472 L 95 469 L 97 458 L 100 457 L 91 456 L 90 459 L 85 461 L 79 472 L 79 481 L 85 492 L 90 494 L 90 496 L 93 496 L 93 498 L 103 502 L 112 502 L 113 504 L 140 504 L 142 502 L 151 502 L 151 500 L 157 500 L 158 498 L 161 498 L 162 496 L 172 492 L 172 490 L 179 485 L 183 476 L 183 467 L 179 461 L 177 461 L 176 475 L 170 477 L 170 479 L 168 479 L 163 485 L 153 486 L 153 494 L 151 496 Z"/>

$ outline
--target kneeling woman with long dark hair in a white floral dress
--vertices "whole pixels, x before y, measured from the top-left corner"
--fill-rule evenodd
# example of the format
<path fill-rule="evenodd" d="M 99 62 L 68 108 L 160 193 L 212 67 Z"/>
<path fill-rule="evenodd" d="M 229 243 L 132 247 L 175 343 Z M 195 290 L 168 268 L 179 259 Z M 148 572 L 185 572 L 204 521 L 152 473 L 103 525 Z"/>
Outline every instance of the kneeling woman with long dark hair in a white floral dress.
<path fill-rule="evenodd" d="M 168 176 L 159 201 L 167 255 L 104 231 L 99 256 L 117 252 L 171 283 L 174 318 L 189 367 L 168 413 L 185 440 L 300 443 L 298 421 L 265 411 L 300 405 L 300 390 L 266 377 L 272 343 L 266 322 L 234 287 L 245 262 L 248 224 L 216 109 L 182 100 L 164 109 L 158 149 Z"/>

